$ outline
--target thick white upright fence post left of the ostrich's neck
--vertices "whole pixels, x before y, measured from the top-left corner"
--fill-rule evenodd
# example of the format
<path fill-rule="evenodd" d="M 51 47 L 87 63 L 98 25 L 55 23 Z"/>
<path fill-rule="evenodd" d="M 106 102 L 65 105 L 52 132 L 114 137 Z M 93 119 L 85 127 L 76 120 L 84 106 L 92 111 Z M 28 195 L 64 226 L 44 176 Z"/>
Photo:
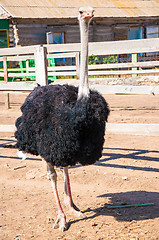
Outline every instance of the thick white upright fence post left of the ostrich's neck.
<path fill-rule="evenodd" d="M 36 83 L 40 86 L 48 85 L 47 74 L 47 48 L 38 46 L 35 48 L 35 71 L 36 71 Z"/>

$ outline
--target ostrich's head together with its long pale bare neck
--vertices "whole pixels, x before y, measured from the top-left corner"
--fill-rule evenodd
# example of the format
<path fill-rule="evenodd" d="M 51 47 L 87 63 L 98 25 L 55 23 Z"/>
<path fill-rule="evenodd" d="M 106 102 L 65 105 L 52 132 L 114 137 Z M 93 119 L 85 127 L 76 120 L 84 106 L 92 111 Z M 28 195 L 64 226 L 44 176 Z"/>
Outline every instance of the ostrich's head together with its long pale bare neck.
<path fill-rule="evenodd" d="M 80 60 L 80 84 L 78 88 L 78 99 L 89 97 L 88 84 L 88 29 L 93 18 L 94 9 L 92 7 L 81 7 L 79 9 L 79 25 L 81 36 L 81 60 Z"/>

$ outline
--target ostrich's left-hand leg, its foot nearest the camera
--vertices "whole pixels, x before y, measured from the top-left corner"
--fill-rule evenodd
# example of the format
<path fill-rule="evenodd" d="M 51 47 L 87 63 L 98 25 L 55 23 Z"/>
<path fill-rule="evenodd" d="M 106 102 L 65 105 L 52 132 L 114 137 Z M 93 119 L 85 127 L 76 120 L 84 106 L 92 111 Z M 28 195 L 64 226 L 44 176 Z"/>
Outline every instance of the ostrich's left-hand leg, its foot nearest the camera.
<path fill-rule="evenodd" d="M 68 224 L 66 222 L 66 216 L 61 207 L 60 199 L 57 192 L 57 174 L 54 167 L 50 163 L 47 163 L 47 176 L 51 180 L 51 185 L 53 188 L 57 209 L 58 209 L 58 216 L 53 225 L 53 228 L 59 228 L 62 232 L 64 232 L 65 230 L 67 230 Z"/>

